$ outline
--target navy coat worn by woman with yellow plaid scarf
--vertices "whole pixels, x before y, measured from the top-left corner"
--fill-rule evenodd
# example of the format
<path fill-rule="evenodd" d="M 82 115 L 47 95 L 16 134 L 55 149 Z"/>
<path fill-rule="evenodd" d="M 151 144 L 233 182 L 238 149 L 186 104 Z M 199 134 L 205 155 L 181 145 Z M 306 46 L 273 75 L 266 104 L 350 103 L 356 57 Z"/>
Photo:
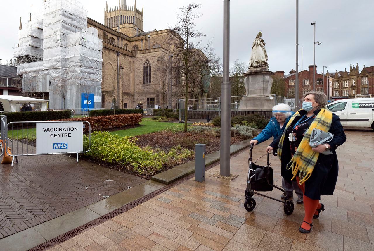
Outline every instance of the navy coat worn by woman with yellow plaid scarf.
<path fill-rule="evenodd" d="M 314 112 L 317 115 L 321 110 L 317 110 Z M 300 110 L 299 113 L 301 116 L 306 114 L 307 112 L 304 110 Z M 292 126 L 300 119 L 301 117 L 295 117 Z M 308 120 L 309 126 L 312 124 L 313 120 Z M 329 130 L 330 133 L 334 135 L 332 140 L 328 142 L 331 146 L 330 151 L 332 154 L 324 155 L 319 154 L 317 163 L 313 169 L 312 175 L 309 179 L 305 182 L 305 195 L 313 200 L 320 200 L 321 194 L 322 195 L 331 195 L 334 193 L 336 181 L 338 179 L 338 158 L 336 155 L 335 150 L 338 146 L 346 142 L 346 134 L 344 133 L 343 126 L 341 126 L 339 117 L 335 114 L 332 114 L 332 121 L 331 127 Z M 279 141 L 281 140 L 281 136 L 279 135 L 271 144 L 274 149 L 278 148 Z M 282 169 L 281 175 L 285 178 L 286 181 L 291 182 L 291 178 L 293 177 L 291 170 L 286 169 L 286 165 L 291 161 L 291 149 L 290 143 L 288 140 L 287 135 L 283 140 L 283 148 L 282 148 Z"/>

